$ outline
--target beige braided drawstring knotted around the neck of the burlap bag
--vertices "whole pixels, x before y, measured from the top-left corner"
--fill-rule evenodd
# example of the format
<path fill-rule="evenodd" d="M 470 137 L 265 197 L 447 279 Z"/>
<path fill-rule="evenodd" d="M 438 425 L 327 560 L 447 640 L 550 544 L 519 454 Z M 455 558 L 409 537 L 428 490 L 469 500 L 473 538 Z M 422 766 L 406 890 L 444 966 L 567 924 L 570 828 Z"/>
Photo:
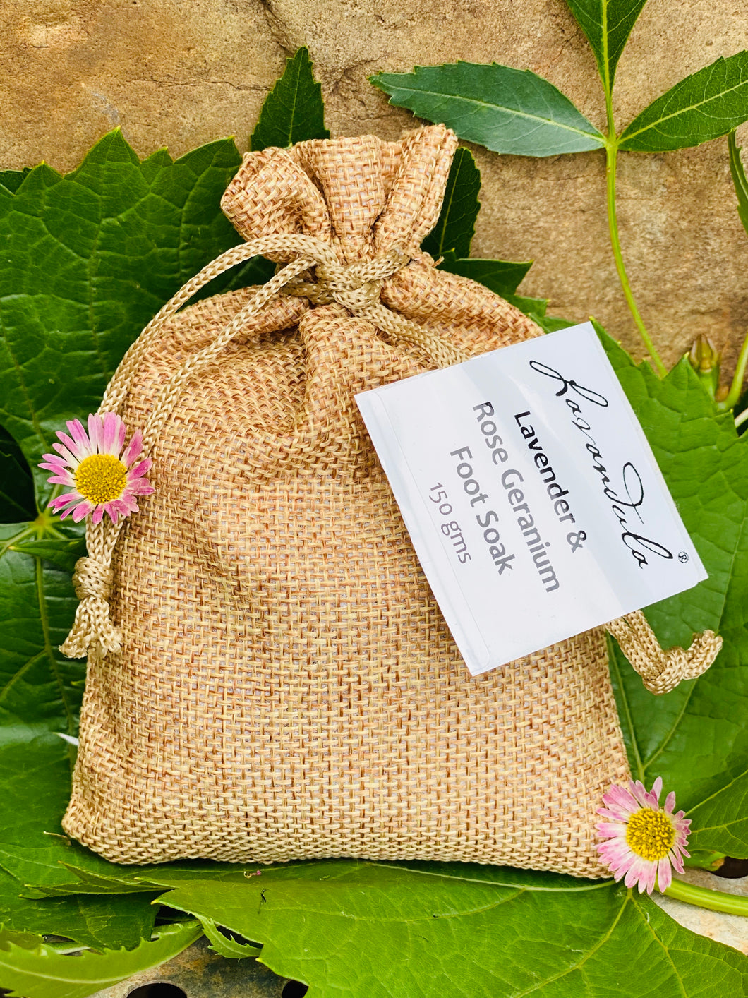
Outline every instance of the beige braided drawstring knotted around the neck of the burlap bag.
<path fill-rule="evenodd" d="M 380 295 L 384 281 L 410 262 L 402 250 L 393 248 L 373 259 L 346 264 L 340 262 L 329 244 L 315 237 L 265 236 L 221 253 L 164 305 L 125 354 L 107 386 L 99 413 L 117 412 L 122 407 L 144 355 L 167 320 L 192 295 L 235 264 L 251 256 L 268 254 L 290 257 L 290 262 L 279 267 L 275 276 L 252 295 L 212 343 L 189 357 L 167 382 L 143 428 L 146 454 L 159 438 L 187 381 L 218 356 L 249 318 L 280 294 L 305 297 L 312 304 L 337 304 L 353 315 L 368 319 L 381 331 L 420 347 L 439 367 L 467 359 L 462 350 L 382 303 Z M 312 270 L 316 279 L 307 279 L 312 276 Z M 89 557 L 79 559 L 73 577 L 76 595 L 81 602 L 71 632 L 60 648 L 69 658 L 84 658 L 89 652 L 101 656 L 122 650 L 122 635 L 110 619 L 109 598 L 113 582 L 112 556 L 123 525 L 123 519 L 116 524 L 105 519 L 98 524 L 88 521 L 86 545 Z M 695 637 L 687 652 L 682 648 L 663 651 L 640 611 L 611 621 L 605 627 L 641 676 L 644 686 L 654 694 L 667 693 L 681 680 L 700 676 L 722 647 L 721 638 L 713 631 L 704 631 Z"/>

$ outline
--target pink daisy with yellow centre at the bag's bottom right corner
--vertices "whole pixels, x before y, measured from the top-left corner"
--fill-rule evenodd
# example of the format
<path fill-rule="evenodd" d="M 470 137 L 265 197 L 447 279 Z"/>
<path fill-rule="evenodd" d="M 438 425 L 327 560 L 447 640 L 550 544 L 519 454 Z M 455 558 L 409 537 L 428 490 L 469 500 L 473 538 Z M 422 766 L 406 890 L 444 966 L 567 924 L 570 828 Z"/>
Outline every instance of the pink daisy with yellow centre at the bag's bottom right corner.
<path fill-rule="evenodd" d="M 659 805 L 662 780 L 654 780 L 647 791 L 638 779 L 628 781 L 628 789 L 613 785 L 602 797 L 604 807 L 597 813 L 606 817 L 595 825 L 600 837 L 597 846 L 602 862 L 616 880 L 625 875 L 626 887 L 639 885 L 639 893 L 652 888 L 662 893 L 672 882 L 672 868 L 683 872 L 690 820 L 683 811 L 673 814 L 675 794 L 668 793 L 664 807 Z"/>

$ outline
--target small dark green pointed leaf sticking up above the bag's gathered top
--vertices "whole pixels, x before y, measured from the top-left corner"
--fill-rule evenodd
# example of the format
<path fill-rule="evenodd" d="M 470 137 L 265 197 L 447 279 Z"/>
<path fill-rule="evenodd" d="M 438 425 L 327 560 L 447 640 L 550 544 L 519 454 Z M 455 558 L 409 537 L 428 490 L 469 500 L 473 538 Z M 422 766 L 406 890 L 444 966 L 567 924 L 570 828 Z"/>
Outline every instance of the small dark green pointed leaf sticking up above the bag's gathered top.
<path fill-rule="evenodd" d="M 300 48 L 286 59 L 285 71 L 265 98 L 252 132 L 252 152 L 281 149 L 306 139 L 329 139 L 325 128 L 322 88 L 315 82 L 309 50 Z"/>

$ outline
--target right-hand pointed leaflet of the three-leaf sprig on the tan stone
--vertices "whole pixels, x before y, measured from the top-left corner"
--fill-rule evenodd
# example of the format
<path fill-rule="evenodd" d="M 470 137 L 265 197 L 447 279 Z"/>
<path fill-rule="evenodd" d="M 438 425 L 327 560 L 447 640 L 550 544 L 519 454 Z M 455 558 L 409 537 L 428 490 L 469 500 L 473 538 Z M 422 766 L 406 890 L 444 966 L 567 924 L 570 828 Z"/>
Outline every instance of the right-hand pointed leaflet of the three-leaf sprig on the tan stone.
<path fill-rule="evenodd" d="M 619 148 L 666 153 L 727 135 L 748 120 L 748 52 L 719 58 L 676 83 L 621 133 Z"/>

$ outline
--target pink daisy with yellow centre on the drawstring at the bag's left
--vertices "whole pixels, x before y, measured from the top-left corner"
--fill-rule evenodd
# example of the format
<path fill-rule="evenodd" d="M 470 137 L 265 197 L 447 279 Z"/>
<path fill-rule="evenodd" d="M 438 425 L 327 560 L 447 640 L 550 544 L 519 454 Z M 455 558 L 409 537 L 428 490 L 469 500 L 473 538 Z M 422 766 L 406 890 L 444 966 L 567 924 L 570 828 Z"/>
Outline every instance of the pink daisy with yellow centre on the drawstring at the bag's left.
<path fill-rule="evenodd" d="M 141 431 L 136 430 L 123 451 L 125 423 L 115 412 L 90 415 L 88 433 L 78 419 L 67 425 L 70 436 L 58 432 L 62 443 L 52 444 L 57 454 L 44 454 L 39 465 L 54 472 L 48 481 L 73 490 L 53 499 L 52 511 L 62 520 L 72 513 L 76 523 L 89 514 L 94 523 L 100 523 L 105 513 L 113 523 L 130 516 L 138 509 L 135 497 L 154 491 L 145 478 L 151 459 L 138 460 L 143 450 Z"/>

